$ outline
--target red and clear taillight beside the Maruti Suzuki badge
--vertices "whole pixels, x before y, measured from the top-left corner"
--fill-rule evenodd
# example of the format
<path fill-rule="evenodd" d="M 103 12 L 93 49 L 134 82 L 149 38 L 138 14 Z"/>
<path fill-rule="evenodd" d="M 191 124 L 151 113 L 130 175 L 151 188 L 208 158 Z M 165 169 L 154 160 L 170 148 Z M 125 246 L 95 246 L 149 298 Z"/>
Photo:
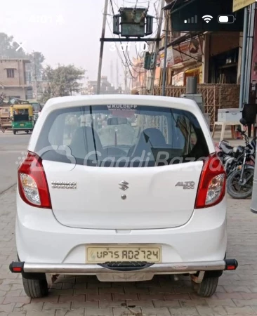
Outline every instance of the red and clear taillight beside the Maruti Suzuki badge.
<path fill-rule="evenodd" d="M 28 152 L 18 169 L 20 197 L 29 205 L 51 209 L 51 199 L 42 159 Z"/>

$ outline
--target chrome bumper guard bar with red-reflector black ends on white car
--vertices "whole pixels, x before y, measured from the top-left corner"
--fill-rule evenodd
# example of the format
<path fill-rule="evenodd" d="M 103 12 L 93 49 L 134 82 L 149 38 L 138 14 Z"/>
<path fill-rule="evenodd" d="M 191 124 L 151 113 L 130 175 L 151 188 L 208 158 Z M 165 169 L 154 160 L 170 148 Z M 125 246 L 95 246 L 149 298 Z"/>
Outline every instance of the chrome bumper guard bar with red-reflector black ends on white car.
<path fill-rule="evenodd" d="M 235 259 L 225 259 L 222 261 L 207 262 L 187 262 L 187 263 L 155 263 L 145 267 L 115 267 L 106 268 L 98 264 L 53 264 L 53 263 L 25 263 L 13 262 L 10 270 L 13 273 L 52 273 L 52 274 L 100 274 L 116 273 L 117 271 L 129 272 L 151 272 L 151 273 L 181 273 L 198 271 L 223 271 L 235 270 L 237 268 Z"/>

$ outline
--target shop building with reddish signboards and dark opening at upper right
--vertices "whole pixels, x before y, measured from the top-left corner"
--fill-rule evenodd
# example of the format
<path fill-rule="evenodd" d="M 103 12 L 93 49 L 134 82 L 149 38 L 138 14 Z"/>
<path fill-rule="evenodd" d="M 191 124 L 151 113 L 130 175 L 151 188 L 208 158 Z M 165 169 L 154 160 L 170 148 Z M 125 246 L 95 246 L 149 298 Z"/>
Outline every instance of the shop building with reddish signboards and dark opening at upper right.
<path fill-rule="evenodd" d="M 172 1 L 166 1 L 169 4 Z M 182 2 L 182 1 L 180 1 Z M 197 77 L 198 84 L 239 84 L 241 73 L 241 32 L 173 32 L 169 18 L 166 53 L 166 86 L 185 86 L 187 77 Z M 162 85 L 164 35 L 159 51 Z"/>

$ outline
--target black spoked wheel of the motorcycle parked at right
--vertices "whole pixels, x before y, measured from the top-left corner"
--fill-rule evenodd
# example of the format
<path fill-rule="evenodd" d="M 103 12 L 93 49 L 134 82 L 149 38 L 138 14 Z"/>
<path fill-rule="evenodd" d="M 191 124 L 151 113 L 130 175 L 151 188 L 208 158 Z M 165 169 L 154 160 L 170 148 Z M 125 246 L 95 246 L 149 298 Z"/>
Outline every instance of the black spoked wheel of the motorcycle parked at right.
<path fill-rule="evenodd" d="M 239 184 L 241 170 L 234 171 L 228 176 L 227 191 L 233 199 L 247 199 L 253 192 L 253 174 L 254 169 L 245 169 L 243 185 Z"/>

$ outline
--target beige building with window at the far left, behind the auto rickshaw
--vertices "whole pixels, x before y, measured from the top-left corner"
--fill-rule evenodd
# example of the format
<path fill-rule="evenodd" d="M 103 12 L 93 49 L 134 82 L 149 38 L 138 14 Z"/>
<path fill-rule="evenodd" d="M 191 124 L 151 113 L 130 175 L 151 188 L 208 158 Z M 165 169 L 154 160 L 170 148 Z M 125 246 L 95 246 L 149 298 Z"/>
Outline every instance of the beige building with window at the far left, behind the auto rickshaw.
<path fill-rule="evenodd" d="M 32 85 L 27 81 L 27 59 L 0 59 L 0 93 L 27 100 L 32 97 Z"/>

